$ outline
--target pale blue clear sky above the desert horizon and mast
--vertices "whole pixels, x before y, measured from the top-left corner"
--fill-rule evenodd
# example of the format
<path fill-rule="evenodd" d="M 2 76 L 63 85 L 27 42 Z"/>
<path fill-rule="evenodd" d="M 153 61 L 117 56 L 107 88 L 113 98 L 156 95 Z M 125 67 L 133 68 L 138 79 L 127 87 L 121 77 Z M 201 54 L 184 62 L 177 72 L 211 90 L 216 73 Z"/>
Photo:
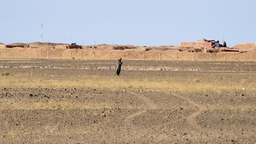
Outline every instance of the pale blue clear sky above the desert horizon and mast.
<path fill-rule="evenodd" d="M 254 0 L 2 0 L 0 42 L 176 45 L 256 42 Z"/>

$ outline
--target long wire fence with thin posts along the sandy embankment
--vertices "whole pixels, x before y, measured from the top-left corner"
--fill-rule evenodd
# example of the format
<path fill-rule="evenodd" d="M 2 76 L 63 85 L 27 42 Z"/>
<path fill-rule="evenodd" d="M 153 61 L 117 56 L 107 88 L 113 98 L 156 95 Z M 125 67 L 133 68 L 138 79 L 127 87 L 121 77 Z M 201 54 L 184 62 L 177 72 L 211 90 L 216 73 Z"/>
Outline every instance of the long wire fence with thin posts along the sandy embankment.
<path fill-rule="evenodd" d="M 126 51 L 94 49 L 0 49 L 1 59 L 126 59 L 256 61 L 256 53 L 188 53 L 168 51 Z"/>

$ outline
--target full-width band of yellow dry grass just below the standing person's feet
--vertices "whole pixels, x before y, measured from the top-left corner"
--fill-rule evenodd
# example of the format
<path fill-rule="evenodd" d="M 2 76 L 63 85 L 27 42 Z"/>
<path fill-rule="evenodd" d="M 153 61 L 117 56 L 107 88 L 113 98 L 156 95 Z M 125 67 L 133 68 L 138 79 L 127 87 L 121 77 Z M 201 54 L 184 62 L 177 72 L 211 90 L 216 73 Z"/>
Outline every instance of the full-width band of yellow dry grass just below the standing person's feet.
<path fill-rule="evenodd" d="M 0 79 L 2 87 L 88 87 L 99 89 L 126 89 L 132 86 L 133 89 L 152 89 L 155 91 L 236 91 L 246 88 L 250 91 L 256 91 L 254 82 L 204 82 L 203 79 L 187 79 L 187 81 L 169 81 L 166 79 L 126 79 L 120 77 L 83 77 L 83 78 L 45 78 L 29 76 L 9 76 Z"/>

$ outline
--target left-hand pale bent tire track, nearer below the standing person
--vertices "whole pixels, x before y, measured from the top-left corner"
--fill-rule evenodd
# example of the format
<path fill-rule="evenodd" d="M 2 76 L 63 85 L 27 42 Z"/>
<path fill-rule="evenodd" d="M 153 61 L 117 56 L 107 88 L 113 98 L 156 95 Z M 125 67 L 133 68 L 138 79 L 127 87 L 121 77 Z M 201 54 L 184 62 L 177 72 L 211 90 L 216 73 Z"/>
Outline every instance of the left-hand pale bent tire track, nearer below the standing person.
<path fill-rule="evenodd" d="M 134 114 L 130 114 L 129 116 L 124 118 L 124 123 L 127 125 L 131 124 L 133 119 L 136 116 L 139 116 L 143 113 L 146 113 L 147 110 L 156 110 L 157 106 L 147 97 L 145 97 L 143 94 L 137 94 L 136 92 L 133 91 L 128 91 L 130 94 L 135 95 L 137 98 L 139 98 L 140 100 L 142 100 L 145 104 L 146 107 L 143 110 L 139 110 Z"/>

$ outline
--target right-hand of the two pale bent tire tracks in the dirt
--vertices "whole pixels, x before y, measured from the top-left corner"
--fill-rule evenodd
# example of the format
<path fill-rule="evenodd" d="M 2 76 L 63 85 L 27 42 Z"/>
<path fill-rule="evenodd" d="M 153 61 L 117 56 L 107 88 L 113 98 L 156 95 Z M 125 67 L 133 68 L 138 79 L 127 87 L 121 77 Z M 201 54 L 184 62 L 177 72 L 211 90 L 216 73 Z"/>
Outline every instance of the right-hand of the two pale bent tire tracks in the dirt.
<path fill-rule="evenodd" d="M 187 101 L 187 103 L 194 105 L 195 107 L 198 108 L 197 111 L 195 111 L 194 113 L 190 114 L 189 116 L 185 117 L 185 120 L 187 121 L 188 124 L 190 124 L 190 126 L 195 127 L 196 129 L 200 129 L 201 126 L 197 123 L 196 117 L 199 116 L 204 110 L 207 110 L 206 107 L 204 107 L 203 105 L 197 104 L 194 101 L 190 100 L 190 98 L 187 97 L 183 97 L 181 95 L 177 95 L 172 93 L 172 95 L 175 95 L 175 97 L 181 98 L 184 101 Z"/>

